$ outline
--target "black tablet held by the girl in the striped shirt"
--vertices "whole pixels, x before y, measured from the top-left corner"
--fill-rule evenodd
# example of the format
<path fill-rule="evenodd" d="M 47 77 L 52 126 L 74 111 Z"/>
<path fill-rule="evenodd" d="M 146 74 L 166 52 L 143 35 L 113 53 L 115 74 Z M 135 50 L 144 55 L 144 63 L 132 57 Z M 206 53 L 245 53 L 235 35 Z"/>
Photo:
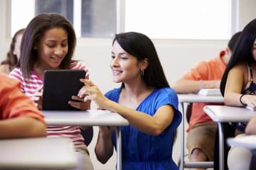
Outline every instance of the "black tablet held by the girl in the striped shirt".
<path fill-rule="evenodd" d="M 68 104 L 72 96 L 84 86 L 80 79 L 85 79 L 82 69 L 48 69 L 43 80 L 43 110 L 78 110 Z"/>

